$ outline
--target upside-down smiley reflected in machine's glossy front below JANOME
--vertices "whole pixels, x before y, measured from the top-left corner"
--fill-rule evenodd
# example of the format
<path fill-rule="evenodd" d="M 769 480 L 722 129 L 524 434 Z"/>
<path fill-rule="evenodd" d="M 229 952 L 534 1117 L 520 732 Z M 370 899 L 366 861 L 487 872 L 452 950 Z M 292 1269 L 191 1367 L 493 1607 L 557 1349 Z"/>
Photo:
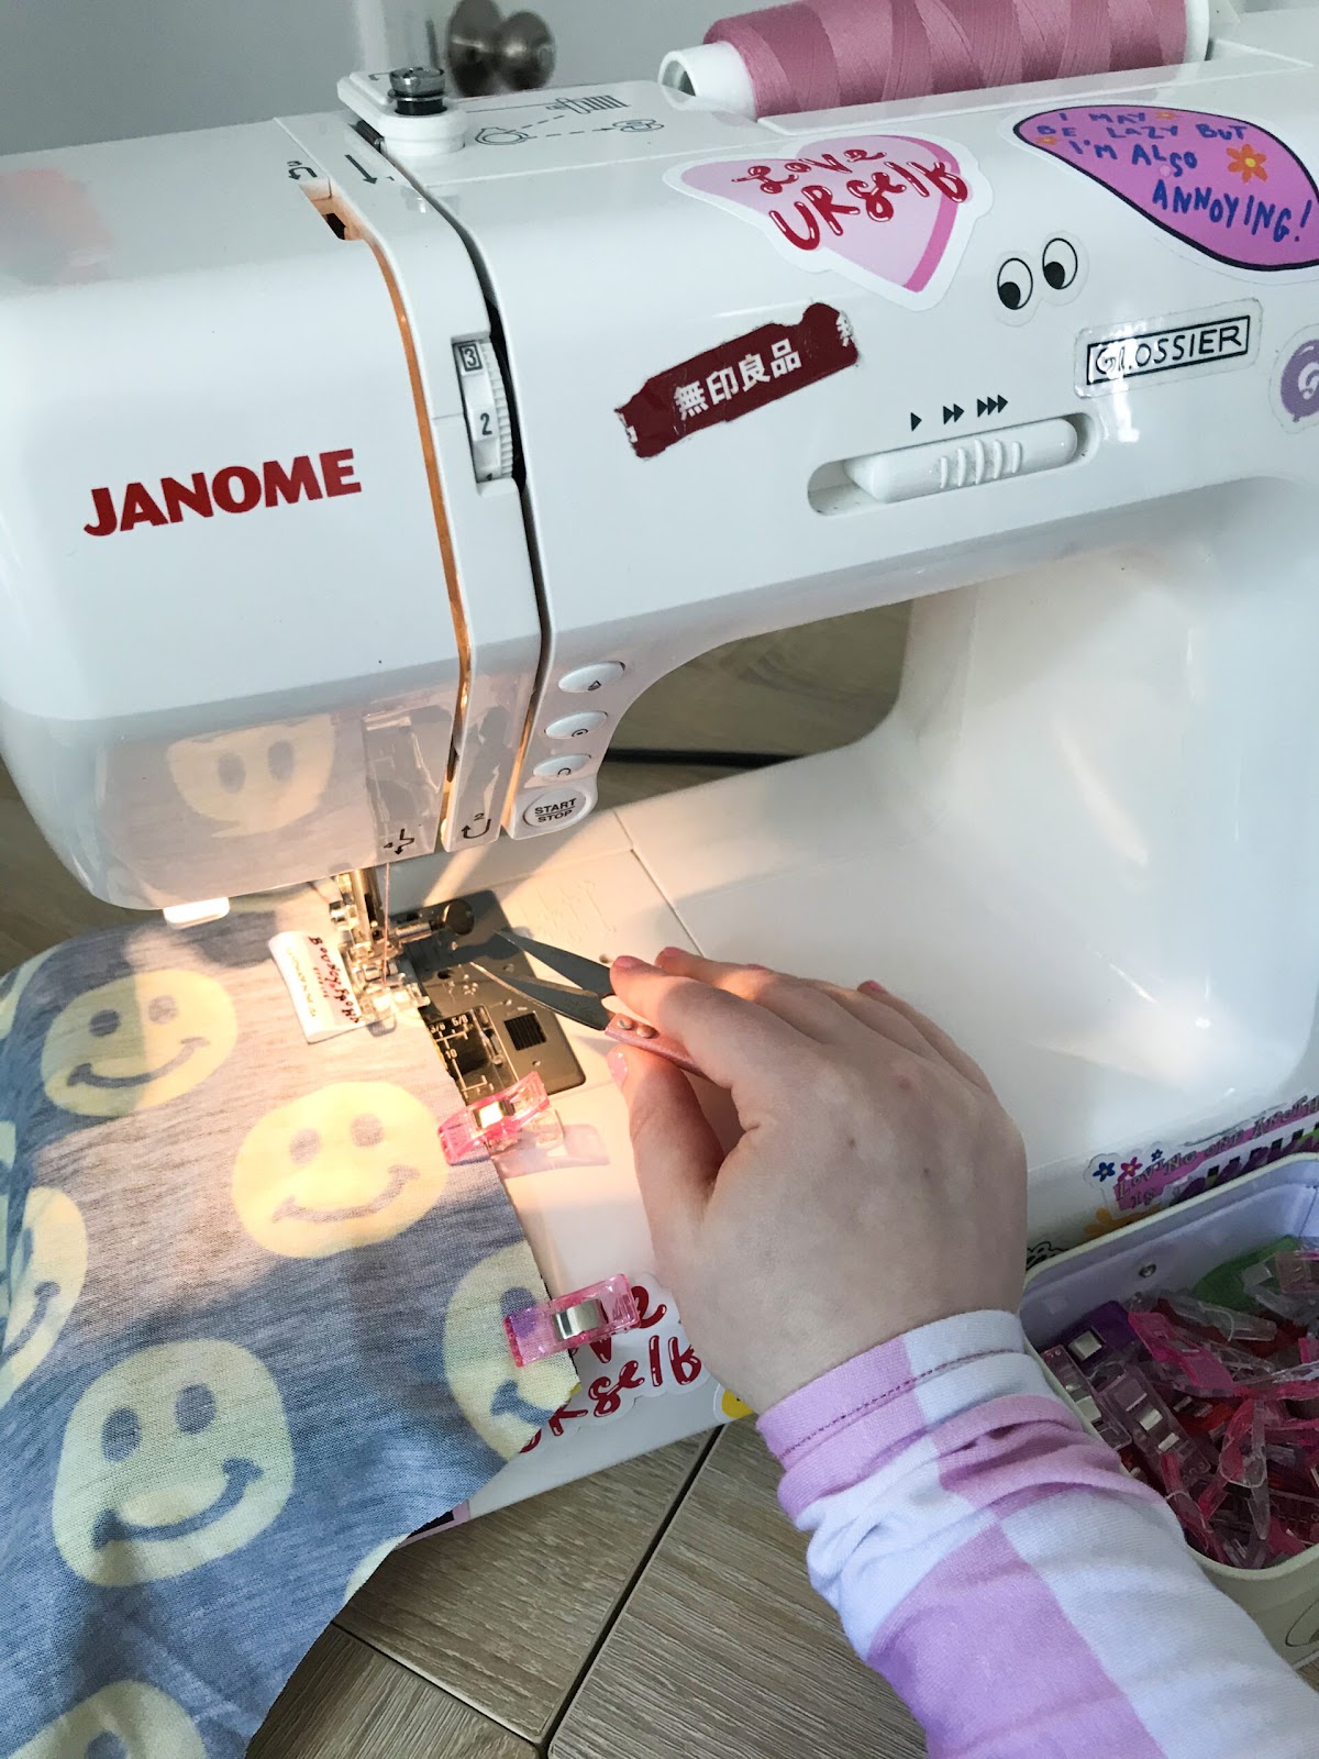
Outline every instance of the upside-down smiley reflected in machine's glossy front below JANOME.
<path fill-rule="evenodd" d="M 179 739 L 165 753 L 186 804 L 222 837 L 260 837 L 313 813 L 334 769 L 334 721 L 274 721 Z"/>

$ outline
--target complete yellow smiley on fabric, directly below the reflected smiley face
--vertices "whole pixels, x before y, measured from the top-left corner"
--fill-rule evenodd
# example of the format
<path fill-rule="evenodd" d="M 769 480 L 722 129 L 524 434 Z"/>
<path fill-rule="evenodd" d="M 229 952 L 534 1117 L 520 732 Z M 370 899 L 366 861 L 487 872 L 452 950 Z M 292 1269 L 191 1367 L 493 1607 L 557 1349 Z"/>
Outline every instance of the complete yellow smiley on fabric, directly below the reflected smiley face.
<path fill-rule="evenodd" d="M 69 1003 L 46 1034 L 40 1078 L 65 1112 L 128 1117 L 200 1087 L 236 1041 L 223 983 L 200 971 L 142 971 Z"/>

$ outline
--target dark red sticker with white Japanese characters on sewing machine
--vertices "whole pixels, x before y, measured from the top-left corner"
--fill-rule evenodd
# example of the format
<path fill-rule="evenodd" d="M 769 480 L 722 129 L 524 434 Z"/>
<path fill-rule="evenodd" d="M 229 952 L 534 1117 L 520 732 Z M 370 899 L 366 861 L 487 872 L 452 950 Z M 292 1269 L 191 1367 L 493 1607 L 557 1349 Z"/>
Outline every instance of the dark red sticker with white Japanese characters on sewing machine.
<path fill-rule="evenodd" d="M 735 422 L 858 359 L 846 315 L 809 306 L 800 324 L 762 324 L 656 373 L 617 415 L 637 457 L 658 457 L 688 434 Z"/>

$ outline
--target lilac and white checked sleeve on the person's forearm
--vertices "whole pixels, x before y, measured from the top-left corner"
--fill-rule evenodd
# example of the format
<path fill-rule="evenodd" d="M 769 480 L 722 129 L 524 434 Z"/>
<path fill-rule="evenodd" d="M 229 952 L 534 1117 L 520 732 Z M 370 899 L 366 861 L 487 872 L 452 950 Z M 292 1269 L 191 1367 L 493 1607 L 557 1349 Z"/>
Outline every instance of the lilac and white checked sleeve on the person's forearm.
<path fill-rule="evenodd" d="M 922 1326 L 760 1420 L 811 1581 L 930 1759 L 1314 1759 L 1319 1697 L 1006 1312 Z"/>

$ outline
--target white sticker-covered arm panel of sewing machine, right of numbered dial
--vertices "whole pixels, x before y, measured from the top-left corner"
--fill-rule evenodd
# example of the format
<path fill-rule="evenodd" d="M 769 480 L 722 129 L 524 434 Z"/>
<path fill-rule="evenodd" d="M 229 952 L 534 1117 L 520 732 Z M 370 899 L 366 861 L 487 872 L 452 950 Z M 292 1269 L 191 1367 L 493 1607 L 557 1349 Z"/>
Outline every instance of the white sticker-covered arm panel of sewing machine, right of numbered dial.
<path fill-rule="evenodd" d="M 1312 93 L 1308 72 L 1229 58 L 1134 90 L 1111 76 L 1043 95 L 749 123 L 623 84 L 598 95 L 619 109 L 584 114 L 580 130 L 552 114 L 540 127 L 545 118 L 522 104 L 506 127 L 470 118 L 459 153 L 406 157 L 471 241 L 508 343 L 549 623 L 524 799 L 545 786 L 554 758 L 586 756 L 556 797 L 575 792 L 587 811 L 589 779 L 628 705 L 719 642 L 1062 561 L 1103 545 L 1115 521 L 1157 540 L 1182 528 L 1178 496 L 1243 473 L 1293 477 L 1294 436 L 1261 394 L 1268 368 L 1249 368 L 1261 334 L 1268 345 L 1310 320 L 1314 269 L 1250 274 L 1217 262 L 1027 146 L 1013 125 L 1085 97 L 1111 106 L 1113 135 L 1143 130 L 1152 151 L 1170 155 L 1187 123 L 1120 118 L 1175 106 L 1257 121 L 1301 162 L 1319 162 Z M 920 294 L 867 276 L 848 257 L 865 259 L 865 222 L 848 216 L 835 243 L 828 216 L 798 202 L 811 172 L 781 169 L 818 165 L 830 150 L 899 158 L 904 141 L 907 162 L 930 164 L 913 142 L 934 144 L 969 185 L 941 269 Z M 1189 144 L 1206 158 L 1194 132 Z M 1222 155 L 1233 142 L 1215 144 Z M 700 169 L 716 162 L 728 167 L 726 199 L 682 188 L 693 176 L 716 183 Z M 756 164 L 767 164 L 765 179 L 751 176 Z M 862 171 L 871 176 L 869 164 Z M 770 172 L 797 185 L 784 186 L 779 211 L 814 248 L 776 241 L 765 213 L 774 204 L 756 206 Z M 902 201 L 923 223 L 922 204 L 929 211 L 937 197 L 907 192 L 890 206 Z M 999 281 L 1015 262 L 1032 287 L 1008 310 Z M 1050 283 L 1050 269 L 1064 285 Z M 688 362 L 689 383 L 660 389 L 709 406 L 726 389 L 719 375 L 756 354 L 754 339 L 739 352 L 740 338 L 798 325 L 818 304 L 855 338 L 853 366 L 637 456 L 619 410 L 642 387 Z M 1236 320 L 1219 359 L 1212 338 L 1198 338 L 1206 352 L 1196 371 L 1124 378 L 1101 396 L 1078 385 L 1083 334 Z M 681 410 L 675 426 L 686 426 Z M 930 466 L 932 442 L 946 461 Z M 872 463 L 867 493 L 864 473 L 846 466 L 876 456 L 888 463 Z M 923 493 L 930 470 L 971 493 Z M 892 493 L 893 482 L 909 487 Z M 589 700 L 565 690 L 596 667 L 612 670 Z M 540 828 L 565 818 L 556 811 Z"/>

